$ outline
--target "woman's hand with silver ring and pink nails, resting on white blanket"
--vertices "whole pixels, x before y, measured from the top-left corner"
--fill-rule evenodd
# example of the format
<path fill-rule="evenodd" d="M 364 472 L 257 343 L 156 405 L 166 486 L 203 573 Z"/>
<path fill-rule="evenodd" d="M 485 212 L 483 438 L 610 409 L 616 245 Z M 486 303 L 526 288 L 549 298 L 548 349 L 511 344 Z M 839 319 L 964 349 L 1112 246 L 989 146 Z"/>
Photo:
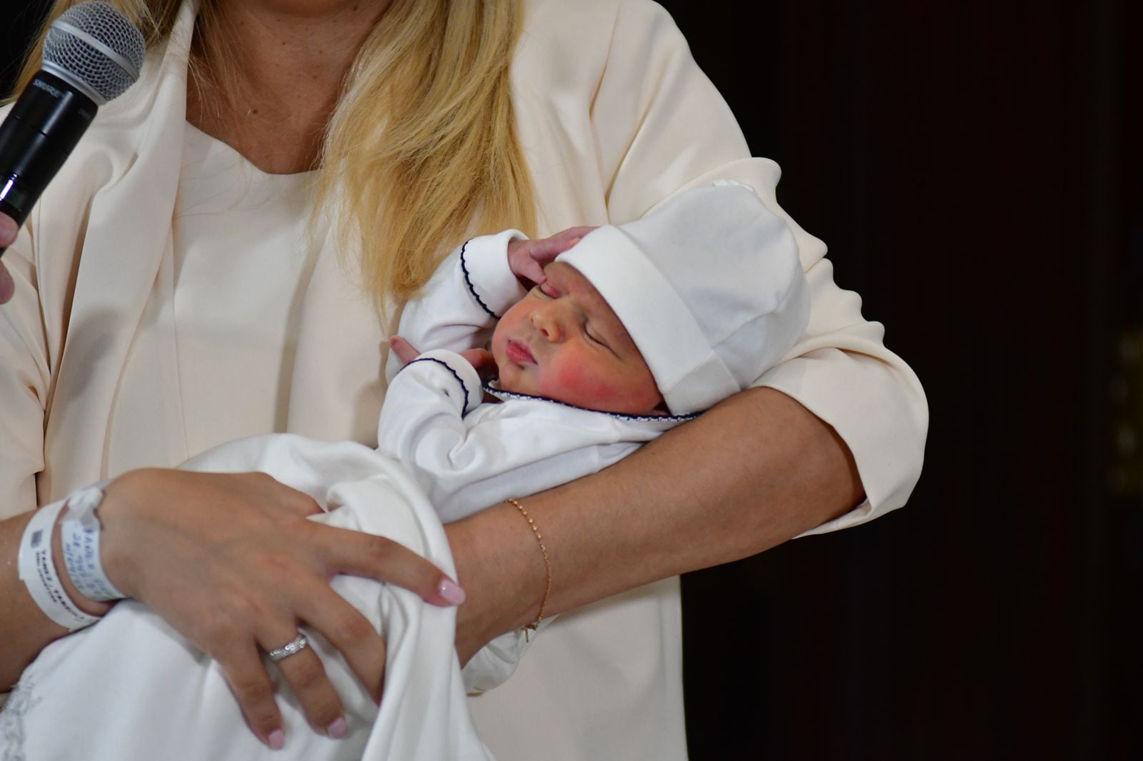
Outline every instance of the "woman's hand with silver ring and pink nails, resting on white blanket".
<path fill-rule="evenodd" d="M 429 561 L 384 537 L 306 520 L 309 496 L 264 473 L 131 471 L 99 507 L 112 582 L 162 616 L 222 666 L 254 732 L 285 735 L 262 652 L 321 632 L 381 699 L 385 643 L 329 586 L 337 574 L 411 590 L 438 606 L 464 593 Z M 277 664 L 315 730 L 345 732 L 342 704 L 321 660 L 304 649 Z"/>

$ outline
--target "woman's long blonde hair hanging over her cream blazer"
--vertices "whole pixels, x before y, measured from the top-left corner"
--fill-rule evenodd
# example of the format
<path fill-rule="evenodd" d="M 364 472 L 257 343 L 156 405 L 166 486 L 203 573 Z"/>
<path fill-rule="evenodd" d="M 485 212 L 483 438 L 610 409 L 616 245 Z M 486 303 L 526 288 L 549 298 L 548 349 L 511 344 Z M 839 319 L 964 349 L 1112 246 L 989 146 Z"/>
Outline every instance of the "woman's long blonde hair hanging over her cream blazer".
<path fill-rule="evenodd" d="M 48 21 L 79 1 L 56 0 Z M 111 2 L 149 47 L 169 38 L 182 5 Z M 209 31 L 216 2 L 201 0 L 199 51 L 223 45 Z M 361 251 L 362 287 L 383 317 L 414 296 L 465 235 L 535 232 L 535 190 L 509 85 L 521 23 L 519 0 L 393 0 L 345 77 L 314 208 L 331 210 L 343 250 Z M 39 69 L 42 38 L 21 89 Z M 192 75 L 202 74 L 192 66 Z M 229 75 L 211 78 L 224 93 Z"/>

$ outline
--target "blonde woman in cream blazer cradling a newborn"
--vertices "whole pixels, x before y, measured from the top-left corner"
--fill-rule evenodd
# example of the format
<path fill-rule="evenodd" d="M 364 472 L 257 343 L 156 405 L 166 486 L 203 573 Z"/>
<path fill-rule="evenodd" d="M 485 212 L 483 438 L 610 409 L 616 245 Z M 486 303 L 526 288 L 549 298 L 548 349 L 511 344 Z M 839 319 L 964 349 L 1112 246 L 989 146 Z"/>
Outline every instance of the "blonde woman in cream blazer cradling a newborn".
<path fill-rule="evenodd" d="M 544 559 L 515 507 L 489 505 L 447 527 L 462 593 L 384 539 L 304 520 L 312 502 L 264 476 L 168 468 L 267 431 L 369 443 L 377 314 L 392 325 L 473 232 L 628 222 L 718 178 L 777 209 L 777 169 L 749 158 L 644 0 L 117 5 L 149 38 L 141 80 L 19 237 L 0 237 L 15 281 L 0 311 L 0 687 L 65 633 L 13 562 L 31 511 L 113 478 L 99 508 L 110 578 L 222 664 L 273 745 L 259 651 L 298 622 L 382 695 L 383 643 L 330 575 L 437 604 L 466 595 L 464 660 L 535 619 Z M 471 702 L 497 758 L 686 758 L 674 576 L 908 497 L 924 394 L 833 285 L 824 246 L 791 225 L 813 311 L 759 387 L 607 471 L 520 495 L 551 552 L 546 610 L 575 612 Z M 338 699 L 311 656 L 278 667 L 315 730 L 336 735 Z"/>

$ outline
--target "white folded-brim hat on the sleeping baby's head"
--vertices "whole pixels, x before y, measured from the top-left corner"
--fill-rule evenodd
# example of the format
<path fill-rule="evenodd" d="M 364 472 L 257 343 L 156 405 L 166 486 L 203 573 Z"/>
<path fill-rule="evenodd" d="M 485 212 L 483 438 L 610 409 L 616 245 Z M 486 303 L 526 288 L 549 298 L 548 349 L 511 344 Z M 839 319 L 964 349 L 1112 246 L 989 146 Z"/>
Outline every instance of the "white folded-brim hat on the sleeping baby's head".
<path fill-rule="evenodd" d="M 749 387 L 809 320 L 793 233 L 741 183 L 685 191 L 558 259 L 615 310 L 673 415 Z"/>

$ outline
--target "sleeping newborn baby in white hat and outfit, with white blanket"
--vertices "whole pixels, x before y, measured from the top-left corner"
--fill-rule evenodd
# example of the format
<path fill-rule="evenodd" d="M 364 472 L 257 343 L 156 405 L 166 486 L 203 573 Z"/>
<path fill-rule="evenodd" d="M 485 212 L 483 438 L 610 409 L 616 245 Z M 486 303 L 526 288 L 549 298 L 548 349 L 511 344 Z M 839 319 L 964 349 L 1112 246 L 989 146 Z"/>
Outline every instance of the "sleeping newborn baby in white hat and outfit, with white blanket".
<path fill-rule="evenodd" d="M 387 536 L 455 575 L 442 522 L 617 462 L 753 384 L 806 328 L 793 237 L 746 186 L 695 189 L 583 233 L 554 261 L 517 231 L 475 238 L 438 269 L 392 342 L 376 450 L 269 434 L 185 467 L 265 471 L 328 511 L 314 520 Z M 5 750 L 32 761 L 490 758 L 465 694 L 507 679 L 526 633 L 497 638 L 462 674 L 455 609 L 358 577 L 333 585 L 387 644 L 378 707 L 304 632 L 342 697 L 344 738 L 310 730 L 280 689 L 289 739 L 285 755 L 270 751 L 218 666 L 127 600 L 29 666 L 0 713 Z"/>

